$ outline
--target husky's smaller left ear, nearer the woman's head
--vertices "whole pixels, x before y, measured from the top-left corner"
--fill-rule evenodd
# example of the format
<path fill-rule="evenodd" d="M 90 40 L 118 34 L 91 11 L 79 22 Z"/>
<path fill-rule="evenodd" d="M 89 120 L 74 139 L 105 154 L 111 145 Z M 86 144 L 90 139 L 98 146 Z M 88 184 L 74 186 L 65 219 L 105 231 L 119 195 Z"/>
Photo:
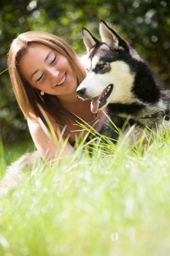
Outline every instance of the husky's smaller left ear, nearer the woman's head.
<path fill-rule="evenodd" d="M 82 37 L 88 52 L 99 43 L 98 39 L 93 37 L 93 34 L 91 34 L 90 31 L 86 28 L 82 28 Z"/>

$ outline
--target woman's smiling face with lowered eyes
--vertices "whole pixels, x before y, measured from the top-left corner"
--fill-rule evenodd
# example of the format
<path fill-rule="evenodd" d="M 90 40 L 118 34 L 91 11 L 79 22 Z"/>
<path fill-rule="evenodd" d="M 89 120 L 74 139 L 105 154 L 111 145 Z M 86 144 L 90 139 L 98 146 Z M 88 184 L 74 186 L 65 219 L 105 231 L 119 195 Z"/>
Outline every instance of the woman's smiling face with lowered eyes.
<path fill-rule="evenodd" d="M 65 56 L 40 43 L 33 43 L 21 57 L 20 72 L 28 83 L 47 94 L 64 96 L 77 88 L 77 75 Z"/>

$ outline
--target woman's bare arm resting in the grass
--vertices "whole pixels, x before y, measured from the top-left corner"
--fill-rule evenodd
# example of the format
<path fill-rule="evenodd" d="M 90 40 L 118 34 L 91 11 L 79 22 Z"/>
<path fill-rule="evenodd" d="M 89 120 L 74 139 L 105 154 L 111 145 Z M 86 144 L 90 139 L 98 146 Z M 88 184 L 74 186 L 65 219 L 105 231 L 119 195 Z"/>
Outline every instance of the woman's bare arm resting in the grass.
<path fill-rule="evenodd" d="M 58 142 L 55 142 L 52 136 L 51 138 L 47 136 L 44 129 L 42 129 L 42 126 L 39 124 L 39 121 L 31 121 L 28 119 L 28 128 L 42 159 L 49 160 L 57 158 L 64 146 L 64 140 L 60 138 Z M 73 152 L 74 148 L 70 143 L 66 143 L 63 153 L 72 154 Z"/>

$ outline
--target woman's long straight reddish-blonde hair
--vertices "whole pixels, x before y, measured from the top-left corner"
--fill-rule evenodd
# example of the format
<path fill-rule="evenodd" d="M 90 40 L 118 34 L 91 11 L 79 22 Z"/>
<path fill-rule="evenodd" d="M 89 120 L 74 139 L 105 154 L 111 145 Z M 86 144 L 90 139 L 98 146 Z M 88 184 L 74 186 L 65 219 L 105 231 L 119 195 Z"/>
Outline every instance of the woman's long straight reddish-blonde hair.
<path fill-rule="evenodd" d="M 70 113 L 61 106 L 58 98 L 50 94 L 45 94 L 42 97 L 39 94 L 39 90 L 31 86 L 20 74 L 20 58 L 26 53 L 31 43 L 41 43 L 65 56 L 77 74 L 77 86 L 85 78 L 85 70 L 74 50 L 63 39 L 47 32 L 27 31 L 18 35 L 10 46 L 7 59 L 9 75 L 15 97 L 23 115 L 26 118 L 33 119 L 31 115 L 33 114 L 36 117 L 42 118 L 42 121 L 46 124 L 45 118 L 42 115 L 42 109 L 57 121 L 58 125 L 63 127 L 66 124 L 66 116 L 70 116 Z"/>

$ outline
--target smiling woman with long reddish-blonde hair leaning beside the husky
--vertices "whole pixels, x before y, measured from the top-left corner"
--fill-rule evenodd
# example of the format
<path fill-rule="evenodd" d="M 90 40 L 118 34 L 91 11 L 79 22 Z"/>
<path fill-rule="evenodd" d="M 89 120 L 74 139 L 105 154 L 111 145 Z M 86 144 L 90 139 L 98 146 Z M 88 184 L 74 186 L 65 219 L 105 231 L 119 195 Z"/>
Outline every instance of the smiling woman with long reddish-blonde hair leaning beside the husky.
<path fill-rule="evenodd" d="M 85 67 L 63 39 L 42 31 L 18 35 L 9 49 L 8 67 L 18 105 L 43 159 L 57 157 L 66 138 L 65 152 L 74 152 L 72 146 L 81 135 L 75 131 L 80 129 L 79 118 L 96 129 L 104 121 L 101 111 L 96 118 L 90 112 L 90 102 L 77 97 Z M 49 138 L 47 120 L 53 125 L 57 143 Z"/>

